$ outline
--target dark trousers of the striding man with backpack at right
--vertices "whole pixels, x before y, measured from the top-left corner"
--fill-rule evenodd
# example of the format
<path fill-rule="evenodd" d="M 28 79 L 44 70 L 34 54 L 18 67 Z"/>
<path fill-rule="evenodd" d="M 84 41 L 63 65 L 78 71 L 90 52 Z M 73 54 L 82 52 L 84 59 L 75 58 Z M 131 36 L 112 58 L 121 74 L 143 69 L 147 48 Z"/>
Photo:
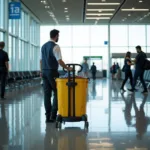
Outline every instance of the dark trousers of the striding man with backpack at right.
<path fill-rule="evenodd" d="M 145 81 L 144 81 L 144 70 L 135 70 L 135 73 L 134 73 L 134 80 L 133 80 L 133 86 L 132 86 L 132 89 L 134 90 L 135 89 L 135 86 L 136 86 L 136 82 L 137 82 L 137 79 L 138 77 L 140 78 L 140 81 L 143 85 L 143 88 L 145 91 L 147 91 L 147 87 L 146 87 L 146 84 L 145 84 Z"/>

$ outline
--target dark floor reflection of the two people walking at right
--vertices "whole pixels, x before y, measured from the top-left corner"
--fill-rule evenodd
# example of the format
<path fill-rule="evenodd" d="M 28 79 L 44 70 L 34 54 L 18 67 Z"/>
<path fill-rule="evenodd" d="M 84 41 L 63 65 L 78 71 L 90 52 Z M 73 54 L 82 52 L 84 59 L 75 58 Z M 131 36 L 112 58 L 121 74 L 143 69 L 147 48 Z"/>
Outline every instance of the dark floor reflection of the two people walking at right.
<path fill-rule="evenodd" d="M 150 117 L 145 115 L 144 105 L 147 101 L 148 95 L 143 96 L 143 100 L 140 106 L 137 106 L 135 94 L 130 96 L 130 99 L 126 99 L 122 94 L 122 98 L 125 102 L 124 116 L 126 124 L 129 127 L 135 127 L 137 132 L 137 139 L 141 140 L 144 134 L 147 132 L 148 125 L 150 124 Z M 131 109 L 134 109 L 134 114 L 132 115 Z"/>

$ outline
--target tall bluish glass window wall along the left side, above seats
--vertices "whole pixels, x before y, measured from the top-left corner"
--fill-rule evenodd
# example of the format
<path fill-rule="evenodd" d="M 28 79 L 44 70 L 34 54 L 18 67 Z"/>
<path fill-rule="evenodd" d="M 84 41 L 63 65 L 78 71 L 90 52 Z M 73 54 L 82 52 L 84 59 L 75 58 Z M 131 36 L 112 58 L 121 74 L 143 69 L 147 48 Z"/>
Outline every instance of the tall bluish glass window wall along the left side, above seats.
<path fill-rule="evenodd" d="M 39 69 L 37 60 L 39 61 L 40 24 L 33 15 L 31 16 L 30 12 L 24 10 L 24 7 L 21 11 L 21 19 L 8 19 L 5 16 L 5 9 L 8 8 L 9 2 L 12 1 L 14 0 L 8 0 L 6 6 L 5 0 L 0 0 L 0 41 L 5 41 L 4 36 L 8 36 L 8 38 L 6 37 L 8 40 L 5 42 L 6 51 L 8 51 L 10 59 L 10 71 Z M 4 28 L 6 19 L 8 19 L 8 29 L 7 25 Z M 32 60 L 32 64 L 30 60 Z"/>

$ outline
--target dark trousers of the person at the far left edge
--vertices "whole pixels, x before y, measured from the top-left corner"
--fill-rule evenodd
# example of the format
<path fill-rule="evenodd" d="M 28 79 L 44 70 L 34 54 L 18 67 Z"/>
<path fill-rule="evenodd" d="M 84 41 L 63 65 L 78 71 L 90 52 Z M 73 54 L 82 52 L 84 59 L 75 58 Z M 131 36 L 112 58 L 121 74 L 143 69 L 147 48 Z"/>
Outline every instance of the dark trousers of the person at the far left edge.
<path fill-rule="evenodd" d="M 1 98 L 5 96 L 7 72 L 0 70 L 0 81 L 1 81 Z"/>

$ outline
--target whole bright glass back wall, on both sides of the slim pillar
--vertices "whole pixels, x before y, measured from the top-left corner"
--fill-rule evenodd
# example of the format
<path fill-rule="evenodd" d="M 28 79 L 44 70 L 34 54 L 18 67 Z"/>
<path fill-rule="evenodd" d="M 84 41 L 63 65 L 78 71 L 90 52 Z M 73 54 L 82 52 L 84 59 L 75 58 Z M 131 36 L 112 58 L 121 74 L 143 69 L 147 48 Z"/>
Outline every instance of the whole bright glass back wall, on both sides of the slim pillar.
<path fill-rule="evenodd" d="M 65 62 L 82 63 L 83 56 L 102 56 L 102 68 L 108 69 L 108 59 L 110 59 L 108 58 L 108 45 L 104 44 L 108 41 L 107 25 L 42 26 L 41 45 L 49 40 L 49 32 L 54 28 L 60 30 L 58 44 L 62 49 Z M 111 25 L 111 53 L 126 53 L 127 51 L 136 53 L 135 46 L 137 45 L 141 45 L 144 52 L 150 52 L 150 34 L 148 33 L 150 33 L 150 26 L 147 26 L 146 30 L 146 25 Z"/>

